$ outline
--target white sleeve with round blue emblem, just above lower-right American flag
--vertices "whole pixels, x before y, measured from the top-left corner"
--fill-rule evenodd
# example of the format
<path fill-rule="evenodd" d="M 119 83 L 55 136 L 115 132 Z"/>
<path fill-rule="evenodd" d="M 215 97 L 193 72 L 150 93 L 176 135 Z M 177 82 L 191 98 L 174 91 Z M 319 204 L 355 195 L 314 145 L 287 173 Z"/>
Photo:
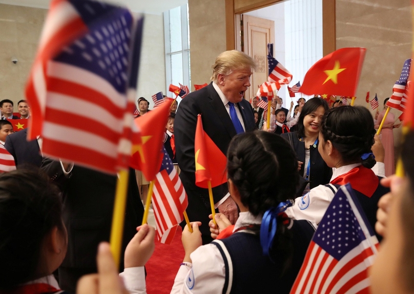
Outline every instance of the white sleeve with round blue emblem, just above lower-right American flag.
<path fill-rule="evenodd" d="M 286 214 L 295 220 L 310 221 L 317 228 L 333 198 L 334 192 L 330 188 L 319 185 L 296 198 L 295 204 L 286 209 Z"/>

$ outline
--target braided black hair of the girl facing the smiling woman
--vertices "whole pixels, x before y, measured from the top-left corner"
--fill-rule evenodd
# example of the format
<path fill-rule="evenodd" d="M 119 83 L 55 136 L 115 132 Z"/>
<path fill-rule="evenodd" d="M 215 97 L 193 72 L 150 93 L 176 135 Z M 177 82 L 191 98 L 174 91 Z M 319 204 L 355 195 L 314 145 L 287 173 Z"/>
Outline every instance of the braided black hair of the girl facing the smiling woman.
<path fill-rule="evenodd" d="M 361 162 L 371 168 L 376 161 L 373 155 L 362 160 L 361 155 L 370 153 L 374 145 L 374 121 L 368 109 L 362 106 L 343 106 L 325 112 L 321 124 L 325 141 L 332 142 L 344 163 Z"/>

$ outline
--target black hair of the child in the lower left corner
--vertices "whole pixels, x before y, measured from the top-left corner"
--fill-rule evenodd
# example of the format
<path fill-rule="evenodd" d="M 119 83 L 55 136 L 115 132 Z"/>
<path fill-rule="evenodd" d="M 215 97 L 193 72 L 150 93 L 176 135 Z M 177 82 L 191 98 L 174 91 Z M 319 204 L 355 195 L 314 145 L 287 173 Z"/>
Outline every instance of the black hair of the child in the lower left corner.
<path fill-rule="evenodd" d="M 57 187 L 35 170 L 0 175 L 0 289 L 33 280 L 40 250 L 55 226 L 64 230 Z"/>

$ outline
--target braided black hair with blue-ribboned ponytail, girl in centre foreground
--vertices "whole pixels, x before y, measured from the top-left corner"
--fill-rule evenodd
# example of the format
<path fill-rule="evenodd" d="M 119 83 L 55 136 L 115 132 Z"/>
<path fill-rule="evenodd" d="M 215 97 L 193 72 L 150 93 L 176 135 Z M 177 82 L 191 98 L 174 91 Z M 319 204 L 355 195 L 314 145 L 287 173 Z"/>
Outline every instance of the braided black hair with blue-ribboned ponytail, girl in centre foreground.
<path fill-rule="evenodd" d="M 298 160 L 281 136 L 254 131 L 234 136 L 227 150 L 227 177 L 240 193 L 240 201 L 253 215 L 264 214 L 280 202 L 294 200 L 299 181 Z M 270 257 L 281 272 L 292 262 L 292 232 L 284 215 L 278 215 Z M 254 229 L 252 229 L 254 231 Z M 256 231 L 257 233 L 257 231 Z"/>

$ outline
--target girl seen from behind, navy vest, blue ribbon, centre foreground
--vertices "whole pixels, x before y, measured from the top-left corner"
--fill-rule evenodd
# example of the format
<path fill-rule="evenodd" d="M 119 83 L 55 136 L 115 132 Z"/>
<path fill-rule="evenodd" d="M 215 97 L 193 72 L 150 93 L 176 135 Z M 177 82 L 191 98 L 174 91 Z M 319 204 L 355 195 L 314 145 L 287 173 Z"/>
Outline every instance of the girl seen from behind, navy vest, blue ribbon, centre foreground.
<path fill-rule="evenodd" d="M 289 292 L 314 232 L 309 222 L 283 212 L 292 205 L 297 166 L 295 152 L 278 135 L 255 131 L 233 138 L 227 179 L 240 208 L 233 234 L 201 246 L 200 223 L 192 223 L 193 232 L 186 226 L 185 257 L 171 293 Z"/>

